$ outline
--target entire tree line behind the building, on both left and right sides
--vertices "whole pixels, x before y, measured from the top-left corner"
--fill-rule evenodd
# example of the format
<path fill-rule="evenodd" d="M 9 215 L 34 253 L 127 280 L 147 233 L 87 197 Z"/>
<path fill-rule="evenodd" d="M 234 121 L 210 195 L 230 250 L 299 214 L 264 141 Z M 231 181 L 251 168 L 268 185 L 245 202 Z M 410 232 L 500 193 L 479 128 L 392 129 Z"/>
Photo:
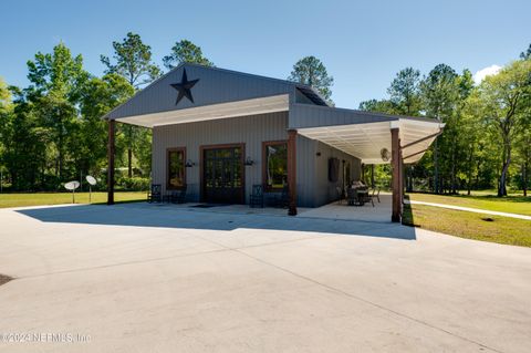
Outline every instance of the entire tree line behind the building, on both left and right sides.
<path fill-rule="evenodd" d="M 105 184 L 107 133 L 101 120 L 183 62 L 214 66 L 200 46 L 175 43 L 157 65 L 138 34 L 112 43 L 101 55 L 98 77 L 83 68 L 81 54 L 64 43 L 28 61 L 28 87 L 0 79 L 0 172 L 12 190 L 56 190 L 64 181 L 94 175 Z M 315 56 L 299 60 L 288 80 L 315 87 L 333 105 L 333 77 Z M 388 97 L 362 102 L 360 110 L 427 116 L 446 124 L 423 159 L 406 168 L 409 190 L 458 193 L 507 188 L 527 193 L 531 162 L 531 45 L 498 73 L 476 84 L 469 70 L 446 64 L 425 75 L 406 68 L 392 80 Z M 118 187 L 149 183 L 150 131 L 118 124 Z M 382 179 L 388 166 L 379 167 Z"/>

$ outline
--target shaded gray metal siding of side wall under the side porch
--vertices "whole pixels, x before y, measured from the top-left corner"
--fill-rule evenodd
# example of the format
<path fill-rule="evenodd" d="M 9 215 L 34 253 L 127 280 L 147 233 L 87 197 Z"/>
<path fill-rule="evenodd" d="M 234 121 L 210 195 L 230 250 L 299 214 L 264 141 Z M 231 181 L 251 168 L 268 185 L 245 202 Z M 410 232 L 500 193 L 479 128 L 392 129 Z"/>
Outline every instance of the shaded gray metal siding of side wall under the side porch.
<path fill-rule="evenodd" d="M 343 185 L 343 163 L 340 163 L 340 179 L 337 183 L 329 180 L 329 159 L 339 158 L 351 164 L 351 180 L 358 180 L 361 177 L 362 164 L 361 160 L 354 156 L 347 155 L 334 147 L 331 147 L 321 142 L 316 142 L 316 150 L 321 156 L 315 162 L 315 195 L 313 198 L 313 207 L 330 204 L 337 199 L 337 186 Z M 350 180 L 347 180 L 350 181 Z"/>

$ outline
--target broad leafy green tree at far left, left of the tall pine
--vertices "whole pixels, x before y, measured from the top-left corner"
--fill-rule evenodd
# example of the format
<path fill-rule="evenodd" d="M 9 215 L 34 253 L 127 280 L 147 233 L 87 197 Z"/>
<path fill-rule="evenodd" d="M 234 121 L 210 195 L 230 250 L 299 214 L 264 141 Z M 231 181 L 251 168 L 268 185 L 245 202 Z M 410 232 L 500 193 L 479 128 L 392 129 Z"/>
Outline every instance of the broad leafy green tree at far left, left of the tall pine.
<path fill-rule="evenodd" d="M 27 90 L 27 97 L 46 131 L 45 137 L 53 144 L 54 149 L 49 153 L 56 155 L 55 175 L 62 181 L 66 146 L 69 143 L 75 146 L 71 132 L 76 128 L 81 87 L 88 74 L 83 70 L 81 54 L 73 58 L 62 42 L 52 53 L 38 52 L 34 61 L 28 61 L 28 69 L 32 85 Z"/>

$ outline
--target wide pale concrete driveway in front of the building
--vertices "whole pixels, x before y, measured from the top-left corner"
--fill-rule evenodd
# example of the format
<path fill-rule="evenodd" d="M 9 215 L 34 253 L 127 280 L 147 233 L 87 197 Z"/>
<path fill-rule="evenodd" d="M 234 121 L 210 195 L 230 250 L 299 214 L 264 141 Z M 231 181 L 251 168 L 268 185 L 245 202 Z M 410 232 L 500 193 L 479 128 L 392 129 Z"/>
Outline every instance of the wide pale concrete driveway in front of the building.
<path fill-rule="evenodd" d="M 0 352 L 531 351 L 531 249 L 386 222 L 3 209 L 0 273 Z"/>

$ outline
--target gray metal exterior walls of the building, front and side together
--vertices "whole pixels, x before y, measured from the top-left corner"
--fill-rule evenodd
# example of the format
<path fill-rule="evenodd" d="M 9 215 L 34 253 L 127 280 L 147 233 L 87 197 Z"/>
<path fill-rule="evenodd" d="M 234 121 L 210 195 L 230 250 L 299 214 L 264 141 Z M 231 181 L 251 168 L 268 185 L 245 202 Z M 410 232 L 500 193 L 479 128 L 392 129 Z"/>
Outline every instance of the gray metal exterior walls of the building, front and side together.
<path fill-rule="evenodd" d="M 208 122 L 156 126 L 153 128 L 152 180 L 160 184 L 166 193 L 167 148 L 186 147 L 186 159 L 195 163 L 186 168 L 188 197 L 200 199 L 200 146 L 244 144 L 244 156 L 254 160 L 246 166 L 246 203 L 252 185 L 262 184 L 262 142 L 288 139 L 288 112 L 241 116 Z M 321 152 L 321 156 L 316 153 Z M 336 184 L 327 180 L 330 157 L 348 159 L 353 178 L 358 173 L 358 159 L 316 141 L 298 136 L 296 191 L 300 207 L 317 207 L 334 200 Z"/>

